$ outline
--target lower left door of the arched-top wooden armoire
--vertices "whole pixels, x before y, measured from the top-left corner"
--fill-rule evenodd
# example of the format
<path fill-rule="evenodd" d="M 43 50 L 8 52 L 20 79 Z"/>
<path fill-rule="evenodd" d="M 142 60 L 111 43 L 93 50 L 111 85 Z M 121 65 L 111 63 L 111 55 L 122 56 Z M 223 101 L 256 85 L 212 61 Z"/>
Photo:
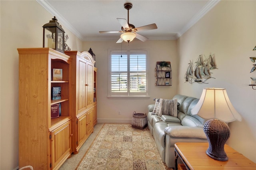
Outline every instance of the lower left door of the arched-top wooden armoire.
<path fill-rule="evenodd" d="M 80 144 L 83 143 L 87 136 L 87 129 L 86 129 L 86 124 L 87 124 L 87 114 L 82 115 L 81 117 L 78 118 L 78 123 L 77 123 L 77 145 L 79 146 Z"/>

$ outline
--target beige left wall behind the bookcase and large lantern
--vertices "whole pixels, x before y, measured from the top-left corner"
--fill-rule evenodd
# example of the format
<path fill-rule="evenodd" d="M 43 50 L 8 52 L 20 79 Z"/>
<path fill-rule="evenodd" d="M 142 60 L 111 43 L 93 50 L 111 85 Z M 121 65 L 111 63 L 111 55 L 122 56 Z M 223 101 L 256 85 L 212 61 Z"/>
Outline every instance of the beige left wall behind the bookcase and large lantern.
<path fill-rule="evenodd" d="M 0 8 L 0 169 L 14 170 L 18 167 L 17 48 L 42 47 L 42 26 L 53 16 L 34 0 L 1 0 Z M 82 50 L 82 41 L 64 26 L 63 29 L 71 49 Z"/>

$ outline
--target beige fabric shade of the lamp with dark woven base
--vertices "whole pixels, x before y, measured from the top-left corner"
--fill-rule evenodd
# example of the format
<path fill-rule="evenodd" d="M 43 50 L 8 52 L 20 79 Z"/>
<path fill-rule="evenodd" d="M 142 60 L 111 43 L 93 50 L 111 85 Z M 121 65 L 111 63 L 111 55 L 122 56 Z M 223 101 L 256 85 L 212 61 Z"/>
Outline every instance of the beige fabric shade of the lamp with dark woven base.
<path fill-rule="evenodd" d="M 241 115 L 231 104 L 226 89 L 220 88 L 203 89 L 202 95 L 191 113 L 204 119 L 219 119 L 226 123 L 242 121 Z"/>

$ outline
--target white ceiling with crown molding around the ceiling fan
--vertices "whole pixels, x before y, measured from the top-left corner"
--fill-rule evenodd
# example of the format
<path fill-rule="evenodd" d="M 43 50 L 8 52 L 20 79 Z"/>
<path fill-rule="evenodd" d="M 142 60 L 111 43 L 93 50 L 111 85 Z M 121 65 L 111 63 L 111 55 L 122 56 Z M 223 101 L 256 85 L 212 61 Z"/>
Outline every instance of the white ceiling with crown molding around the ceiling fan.
<path fill-rule="evenodd" d="M 127 18 L 125 2 L 131 2 L 129 22 L 136 28 L 155 23 L 156 30 L 141 31 L 149 40 L 175 40 L 194 25 L 219 0 L 37 0 L 58 22 L 82 41 L 118 40 L 116 18 Z M 49 18 L 51 20 L 51 18 Z M 48 21 L 46 21 L 47 23 Z"/>

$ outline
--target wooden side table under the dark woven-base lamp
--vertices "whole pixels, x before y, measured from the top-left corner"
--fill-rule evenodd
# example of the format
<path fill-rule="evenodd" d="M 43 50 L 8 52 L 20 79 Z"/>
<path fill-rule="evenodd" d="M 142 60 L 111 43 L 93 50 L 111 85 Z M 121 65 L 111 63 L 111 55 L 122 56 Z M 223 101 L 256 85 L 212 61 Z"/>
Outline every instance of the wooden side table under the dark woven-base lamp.
<path fill-rule="evenodd" d="M 188 170 L 256 170 L 256 164 L 240 154 L 227 144 L 224 150 L 228 156 L 227 161 L 210 158 L 206 154 L 208 143 L 178 142 L 174 148 L 175 170 L 177 170 L 178 157 L 181 158 Z"/>

